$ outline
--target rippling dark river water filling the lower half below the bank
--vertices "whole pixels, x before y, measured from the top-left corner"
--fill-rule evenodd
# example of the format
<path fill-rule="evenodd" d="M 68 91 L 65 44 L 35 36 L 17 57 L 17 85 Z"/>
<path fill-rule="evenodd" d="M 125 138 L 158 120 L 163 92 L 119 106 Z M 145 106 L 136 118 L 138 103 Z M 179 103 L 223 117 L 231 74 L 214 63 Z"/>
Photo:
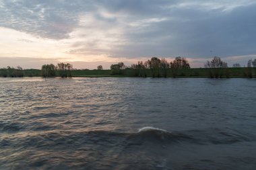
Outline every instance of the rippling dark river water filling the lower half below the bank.
<path fill-rule="evenodd" d="M 1 78 L 0 169 L 256 169 L 256 80 Z"/>

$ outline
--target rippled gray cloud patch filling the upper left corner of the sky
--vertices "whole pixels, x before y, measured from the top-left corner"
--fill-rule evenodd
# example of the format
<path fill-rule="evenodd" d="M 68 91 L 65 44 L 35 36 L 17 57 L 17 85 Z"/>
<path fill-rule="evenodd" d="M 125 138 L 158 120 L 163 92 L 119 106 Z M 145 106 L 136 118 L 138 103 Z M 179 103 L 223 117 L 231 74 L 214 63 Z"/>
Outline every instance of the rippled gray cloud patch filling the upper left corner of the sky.
<path fill-rule="evenodd" d="M 68 38 L 79 22 L 79 13 L 92 7 L 82 1 L 2 1 L 0 26 L 42 38 Z"/>

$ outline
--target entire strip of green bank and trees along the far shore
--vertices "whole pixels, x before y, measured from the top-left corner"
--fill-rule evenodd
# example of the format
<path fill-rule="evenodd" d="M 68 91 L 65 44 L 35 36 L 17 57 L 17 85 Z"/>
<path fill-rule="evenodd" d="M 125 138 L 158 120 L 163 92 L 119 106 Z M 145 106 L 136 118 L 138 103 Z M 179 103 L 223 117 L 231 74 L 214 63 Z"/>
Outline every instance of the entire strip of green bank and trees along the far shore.
<path fill-rule="evenodd" d="M 172 62 L 156 57 L 146 62 L 139 61 L 130 67 L 123 62 L 111 65 L 109 70 L 103 70 L 99 65 L 95 70 L 73 69 L 69 63 L 43 65 L 41 70 L 7 67 L 0 69 L 0 77 L 256 77 L 256 59 L 249 60 L 247 67 L 238 63 L 228 68 L 226 62 L 215 56 L 205 63 L 205 68 L 191 69 L 185 58 L 177 57 Z"/>

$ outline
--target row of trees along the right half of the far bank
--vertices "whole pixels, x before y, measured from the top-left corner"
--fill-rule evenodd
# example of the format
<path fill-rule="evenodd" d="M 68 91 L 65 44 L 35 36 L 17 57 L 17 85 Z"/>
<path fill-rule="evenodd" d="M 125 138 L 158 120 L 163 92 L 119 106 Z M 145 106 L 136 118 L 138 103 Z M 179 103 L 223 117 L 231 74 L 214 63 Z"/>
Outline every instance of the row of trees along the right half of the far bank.
<path fill-rule="evenodd" d="M 238 68 L 241 66 L 236 63 L 233 67 Z M 228 69 L 228 63 L 224 62 L 219 56 L 214 56 L 212 60 L 207 60 L 204 68 L 207 77 L 211 78 L 229 78 L 232 74 Z M 128 67 L 123 62 L 118 62 L 115 65 L 111 65 L 110 70 L 111 75 L 128 75 L 132 77 L 148 77 L 148 75 L 151 77 L 182 77 L 187 76 L 187 73 L 189 73 L 189 76 L 199 76 L 197 71 L 191 73 L 188 60 L 181 56 L 174 58 L 172 62 L 168 62 L 166 58 L 152 57 L 150 60 L 145 62 L 138 61 L 137 64 Z M 253 72 L 256 75 L 256 59 L 248 61 L 247 67 L 243 69 L 243 77 L 252 78 Z"/>

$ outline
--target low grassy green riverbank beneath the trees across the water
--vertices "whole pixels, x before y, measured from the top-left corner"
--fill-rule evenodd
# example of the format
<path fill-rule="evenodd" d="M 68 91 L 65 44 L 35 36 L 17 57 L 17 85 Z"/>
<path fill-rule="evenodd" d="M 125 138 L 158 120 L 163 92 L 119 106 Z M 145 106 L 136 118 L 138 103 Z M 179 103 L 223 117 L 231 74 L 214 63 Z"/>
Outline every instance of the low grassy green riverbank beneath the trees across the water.
<path fill-rule="evenodd" d="M 250 75 L 251 73 L 251 75 Z M 226 68 L 226 69 L 167 69 L 165 71 L 152 71 L 150 69 L 123 69 L 119 73 L 112 70 L 72 70 L 72 77 L 183 77 L 183 78 L 249 78 L 256 77 L 256 68 Z M 42 77 L 42 71 L 38 69 L 0 69 L 0 77 Z M 59 77 L 57 71 L 56 77 Z"/>

